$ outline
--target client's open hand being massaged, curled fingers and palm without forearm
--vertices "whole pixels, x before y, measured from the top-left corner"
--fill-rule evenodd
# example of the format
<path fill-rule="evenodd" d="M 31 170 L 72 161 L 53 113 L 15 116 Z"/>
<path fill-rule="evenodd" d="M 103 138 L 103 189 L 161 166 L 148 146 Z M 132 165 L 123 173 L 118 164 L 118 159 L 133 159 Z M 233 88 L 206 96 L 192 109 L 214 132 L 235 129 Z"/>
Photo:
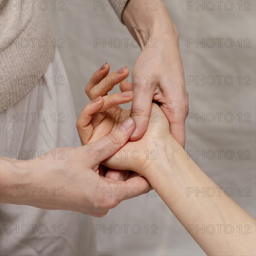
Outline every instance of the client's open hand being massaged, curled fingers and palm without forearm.
<path fill-rule="evenodd" d="M 90 144 L 107 135 L 120 122 L 125 121 L 130 114 L 130 110 L 123 110 L 117 106 L 117 104 L 133 99 L 133 94 L 130 91 L 121 93 L 128 96 L 126 101 L 122 99 L 121 94 L 107 95 L 118 82 L 121 82 L 121 90 L 125 91 L 126 82 L 123 80 L 129 74 L 128 68 L 125 68 L 122 76 L 115 72 L 106 77 L 109 68 L 109 65 L 105 64 L 103 70 L 97 70 L 85 89 L 90 99 L 95 99 L 100 95 L 106 96 L 102 97 L 104 102 L 101 98 L 97 99 L 101 101 L 97 108 L 93 103 L 89 103 L 77 121 L 77 129 L 83 145 Z M 130 85 L 127 87 L 130 88 Z M 148 164 L 158 159 L 157 147 L 161 147 L 162 141 L 165 141 L 167 136 L 174 140 L 170 135 L 166 116 L 156 104 L 152 104 L 148 129 L 144 136 L 139 141 L 128 142 L 120 151 L 103 163 L 112 169 L 133 170 L 145 176 Z M 97 154 L 104 155 L 106 152 L 98 151 Z M 115 173 L 118 175 L 120 172 L 111 170 L 111 172 L 107 172 L 106 176 L 112 176 Z"/>

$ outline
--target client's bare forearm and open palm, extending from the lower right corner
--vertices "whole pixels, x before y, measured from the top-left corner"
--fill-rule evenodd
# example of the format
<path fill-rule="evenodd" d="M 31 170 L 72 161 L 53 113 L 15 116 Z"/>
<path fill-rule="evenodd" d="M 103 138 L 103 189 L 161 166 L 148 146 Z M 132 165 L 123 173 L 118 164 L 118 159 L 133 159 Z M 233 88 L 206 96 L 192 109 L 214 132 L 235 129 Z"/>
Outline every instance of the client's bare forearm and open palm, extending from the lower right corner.
<path fill-rule="evenodd" d="M 88 86 L 92 89 L 91 85 Z M 97 90 L 98 84 L 94 87 Z M 105 88 L 104 94 L 106 90 Z M 108 99 L 108 96 L 105 96 L 106 106 Z M 124 111 L 120 107 L 110 108 L 109 115 L 114 115 L 115 109 Z M 101 120 L 95 122 L 93 117 L 99 112 L 95 109 L 92 111 L 91 105 L 88 104 L 81 113 L 79 123 L 82 127 L 78 126 L 78 131 L 81 137 L 83 132 L 88 135 L 83 143 L 98 140 L 105 130 L 110 131 L 118 125 L 119 121 L 113 121 L 109 115 L 104 115 Z M 115 169 L 132 170 L 147 178 L 207 255 L 255 255 L 255 219 L 225 195 L 224 191 L 188 157 L 170 134 L 168 119 L 155 103 L 151 106 L 151 113 L 156 115 L 150 116 L 147 131 L 142 138 L 138 141 L 128 141 L 113 157 L 102 163 L 113 172 Z M 135 150 L 140 152 L 139 158 L 125 154 Z M 148 151 L 148 155 L 145 151 Z M 195 188 L 199 191 L 213 188 L 215 194 L 202 196 L 200 193 L 189 193 Z M 215 230 L 213 233 L 212 227 Z M 233 228 L 232 232 L 230 227 Z"/>

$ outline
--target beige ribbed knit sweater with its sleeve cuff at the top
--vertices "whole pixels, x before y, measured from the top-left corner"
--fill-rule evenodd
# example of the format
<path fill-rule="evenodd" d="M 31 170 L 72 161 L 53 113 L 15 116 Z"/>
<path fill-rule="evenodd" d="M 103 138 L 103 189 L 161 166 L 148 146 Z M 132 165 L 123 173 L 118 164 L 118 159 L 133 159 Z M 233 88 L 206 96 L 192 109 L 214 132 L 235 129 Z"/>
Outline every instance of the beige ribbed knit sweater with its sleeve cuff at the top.
<path fill-rule="evenodd" d="M 109 0 L 119 19 L 128 0 Z M 54 35 L 34 1 L 0 0 L 0 112 L 38 84 L 54 56 Z"/>

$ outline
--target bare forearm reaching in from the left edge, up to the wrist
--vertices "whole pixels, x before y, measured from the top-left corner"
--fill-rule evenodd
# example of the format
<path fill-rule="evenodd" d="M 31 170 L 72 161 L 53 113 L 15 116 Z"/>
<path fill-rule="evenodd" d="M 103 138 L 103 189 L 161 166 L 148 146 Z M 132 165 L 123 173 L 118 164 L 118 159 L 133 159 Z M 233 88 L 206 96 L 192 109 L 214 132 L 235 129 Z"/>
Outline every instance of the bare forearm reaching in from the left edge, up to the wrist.
<path fill-rule="evenodd" d="M 44 157 L 44 155 L 41 155 Z M 50 159 L 51 157 L 49 157 Z M 31 160 L 16 160 L 2 158 L 0 161 L 0 202 L 29 205 L 41 209 L 58 209 L 55 194 L 64 189 L 56 186 L 52 180 L 54 164 L 57 160 L 47 158 Z M 57 163 L 61 169 L 61 164 Z M 59 178 L 58 181 L 60 181 Z M 55 188 L 55 186 L 57 188 Z M 58 190 L 56 192 L 55 190 Z M 61 198 L 62 199 L 62 198 Z"/>

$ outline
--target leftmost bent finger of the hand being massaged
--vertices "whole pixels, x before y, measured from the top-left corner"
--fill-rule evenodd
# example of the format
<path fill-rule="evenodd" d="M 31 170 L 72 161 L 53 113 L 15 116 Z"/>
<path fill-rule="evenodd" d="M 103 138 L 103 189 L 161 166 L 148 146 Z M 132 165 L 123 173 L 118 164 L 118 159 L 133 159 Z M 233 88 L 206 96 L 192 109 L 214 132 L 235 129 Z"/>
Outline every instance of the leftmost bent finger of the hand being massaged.
<path fill-rule="evenodd" d="M 96 98 L 86 105 L 76 122 L 76 128 L 83 145 L 88 143 L 93 134 L 93 126 L 91 125 L 92 116 L 102 108 L 103 104 L 104 101 L 101 96 Z"/>

